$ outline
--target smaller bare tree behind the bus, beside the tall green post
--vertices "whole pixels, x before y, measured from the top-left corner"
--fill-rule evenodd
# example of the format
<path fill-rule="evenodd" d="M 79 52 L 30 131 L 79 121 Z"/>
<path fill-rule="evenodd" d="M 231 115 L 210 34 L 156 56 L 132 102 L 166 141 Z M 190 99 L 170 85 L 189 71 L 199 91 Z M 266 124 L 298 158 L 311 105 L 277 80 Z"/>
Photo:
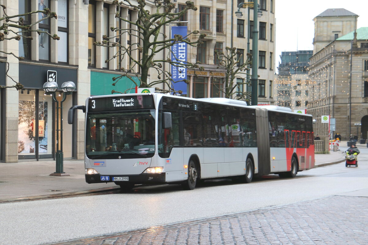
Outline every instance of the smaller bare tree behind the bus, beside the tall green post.
<path fill-rule="evenodd" d="M 240 86 L 244 86 L 244 84 L 250 86 L 251 84 L 251 80 L 249 79 L 250 74 L 247 73 L 249 71 L 247 66 L 252 64 L 251 54 L 248 53 L 247 59 L 244 61 L 243 54 L 241 54 L 236 47 L 226 47 L 225 50 L 225 53 L 215 51 L 219 60 L 217 68 L 225 69 L 225 79 L 223 87 L 217 87 L 216 84 L 214 85 L 219 90 L 219 93 L 223 93 L 225 98 L 234 97 L 236 100 L 244 100 L 247 104 L 250 104 L 251 92 L 240 91 Z M 247 76 L 248 79 L 245 78 L 245 76 Z M 237 83 L 237 78 L 242 79 L 243 82 Z M 234 94 L 236 94 L 236 96 L 234 96 Z"/>

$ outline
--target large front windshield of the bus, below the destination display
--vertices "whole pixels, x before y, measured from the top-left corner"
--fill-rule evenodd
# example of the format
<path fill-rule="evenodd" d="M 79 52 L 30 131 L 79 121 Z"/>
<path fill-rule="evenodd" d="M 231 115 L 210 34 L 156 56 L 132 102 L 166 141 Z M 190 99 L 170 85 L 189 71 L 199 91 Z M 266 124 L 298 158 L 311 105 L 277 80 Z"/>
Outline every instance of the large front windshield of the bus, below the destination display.
<path fill-rule="evenodd" d="M 155 110 L 92 112 L 86 119 L 89 159 L 152 157 L 155 153 Z"/>

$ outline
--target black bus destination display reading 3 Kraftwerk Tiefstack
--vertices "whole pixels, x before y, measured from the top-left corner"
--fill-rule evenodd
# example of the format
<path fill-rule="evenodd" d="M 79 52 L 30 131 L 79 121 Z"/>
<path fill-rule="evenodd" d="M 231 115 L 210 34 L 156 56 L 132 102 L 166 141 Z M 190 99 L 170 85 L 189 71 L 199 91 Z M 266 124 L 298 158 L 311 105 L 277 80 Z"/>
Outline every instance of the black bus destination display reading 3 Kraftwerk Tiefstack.
<path fill-rule="evenodd" d="M 88 111 L 124 111 L 132 109 L 152 109 L 154 108 L 153 97 L 151 95 L 133 95 L 101 97 L 88 99 Z"/>

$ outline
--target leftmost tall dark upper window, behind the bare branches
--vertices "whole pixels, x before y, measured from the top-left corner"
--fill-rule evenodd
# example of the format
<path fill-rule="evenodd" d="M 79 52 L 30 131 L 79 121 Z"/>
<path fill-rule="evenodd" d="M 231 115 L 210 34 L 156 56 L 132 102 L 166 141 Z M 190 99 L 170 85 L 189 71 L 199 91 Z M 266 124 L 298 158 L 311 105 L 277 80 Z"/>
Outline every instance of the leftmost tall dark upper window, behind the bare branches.
<path fill-rule="evenodd" d="M 31 0 L 19 0 L 18 6 L 19 14 L 31 12 Z M 24 19 L 24 25 L 31 25 L 31 15 L 25 15 L 22 18 Z M 31 59 L 31 40 L 22 36 L 29 35 L 29 32 L 22 32 L 20 33 L 21 39 L 19 40 L 19 56 L 27 60 Z"/>

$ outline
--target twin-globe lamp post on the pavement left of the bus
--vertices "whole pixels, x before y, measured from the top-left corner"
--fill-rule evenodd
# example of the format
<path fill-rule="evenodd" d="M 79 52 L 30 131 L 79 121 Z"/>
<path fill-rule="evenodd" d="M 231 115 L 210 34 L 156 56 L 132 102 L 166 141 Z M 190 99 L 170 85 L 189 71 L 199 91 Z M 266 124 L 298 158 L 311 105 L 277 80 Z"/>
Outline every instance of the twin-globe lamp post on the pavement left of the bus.
<path fill-rule="evenodd" d="M 65 82 L 61 85 L 61 90 L 63 90 L 63 99 L 58 101 L 56 99 L 57 93 L 57 83 L 56 82 L 46 82 L 43 84 L 43 90 L 46 94 L 52 95 L 52 99 L 56 102 L 56 171 L 51 173 L 51 176 L 69 176 L 63 171 L 63 102 L 67 98 L 68 94 L 71 94 L 75 90 L 75 84 L 71 81 Z M 61 96 L 61 92 L 59 93 Z M 59 129 L 59 109 L 60 109 L 60 129 Z M 60 149 L 59 149 L 59 135 L 60 135 Z"/>

